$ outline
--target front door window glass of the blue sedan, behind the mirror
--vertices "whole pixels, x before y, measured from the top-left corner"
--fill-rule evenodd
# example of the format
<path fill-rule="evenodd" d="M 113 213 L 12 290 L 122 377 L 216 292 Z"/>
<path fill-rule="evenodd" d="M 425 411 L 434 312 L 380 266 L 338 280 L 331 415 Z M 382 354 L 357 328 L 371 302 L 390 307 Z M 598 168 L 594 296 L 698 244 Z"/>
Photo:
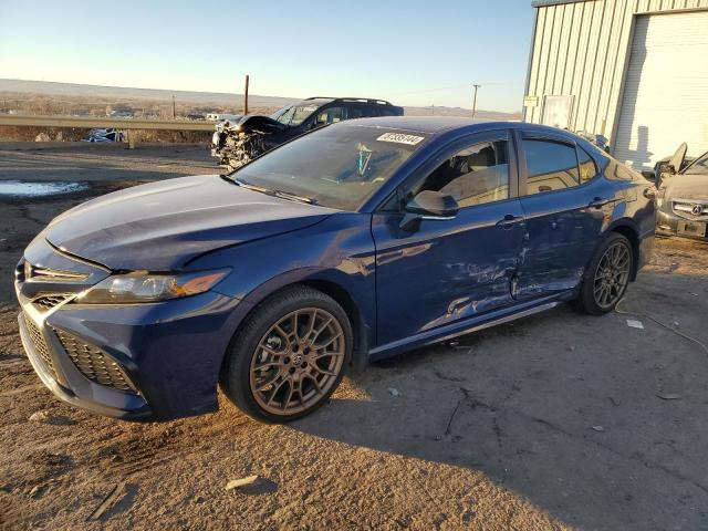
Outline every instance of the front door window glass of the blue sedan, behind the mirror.
<path fill-rule="evenodd" d="M 482 142 L 461 149 L 414 186 L 412 192 L 440 191 L 461 208 L 509 198 L 507 140 Z"/>

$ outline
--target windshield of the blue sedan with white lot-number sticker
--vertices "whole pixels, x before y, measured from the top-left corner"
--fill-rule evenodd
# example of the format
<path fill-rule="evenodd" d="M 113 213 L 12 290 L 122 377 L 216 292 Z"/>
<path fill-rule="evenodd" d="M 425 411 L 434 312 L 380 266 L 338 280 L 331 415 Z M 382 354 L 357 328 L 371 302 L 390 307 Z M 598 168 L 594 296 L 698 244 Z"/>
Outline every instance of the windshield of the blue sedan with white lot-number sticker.
<path fill-rule="evenodd" d="M 427 135 L 337 124 L 315 131 L 232 173 L 239 183 L 356 210 Z"/>

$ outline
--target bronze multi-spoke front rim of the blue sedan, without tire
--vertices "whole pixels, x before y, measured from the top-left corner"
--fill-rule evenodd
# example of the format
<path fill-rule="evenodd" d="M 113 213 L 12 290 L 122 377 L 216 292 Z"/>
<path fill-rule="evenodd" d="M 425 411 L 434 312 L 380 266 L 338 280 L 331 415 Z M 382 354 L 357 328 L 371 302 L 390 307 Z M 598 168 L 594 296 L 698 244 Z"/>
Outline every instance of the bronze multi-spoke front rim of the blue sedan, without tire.
<path fill-rule="evenodd" d="M 250 365 L 253 398 L 270 414 L 310 409 L 336 384 L 344 364 L 344 331 L 320 308 L 304 308 L 275 322 L 261 337 Z"/>

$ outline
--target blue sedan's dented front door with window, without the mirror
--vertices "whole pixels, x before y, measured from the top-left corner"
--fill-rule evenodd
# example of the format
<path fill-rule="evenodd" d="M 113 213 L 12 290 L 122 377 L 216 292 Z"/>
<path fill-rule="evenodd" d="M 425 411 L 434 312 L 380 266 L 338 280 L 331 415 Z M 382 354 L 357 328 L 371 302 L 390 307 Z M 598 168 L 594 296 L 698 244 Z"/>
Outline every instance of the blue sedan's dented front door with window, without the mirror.
<path fill-rule="evenodd" d="M 524 227 L 510 145 L 507 131 L 468 137 L 399 190 L 402 204 L 423 190 L 450 195 L 455 217 L 404 230 L 400 207 L 374 214 L 378 345 L 513 302 Z"/>

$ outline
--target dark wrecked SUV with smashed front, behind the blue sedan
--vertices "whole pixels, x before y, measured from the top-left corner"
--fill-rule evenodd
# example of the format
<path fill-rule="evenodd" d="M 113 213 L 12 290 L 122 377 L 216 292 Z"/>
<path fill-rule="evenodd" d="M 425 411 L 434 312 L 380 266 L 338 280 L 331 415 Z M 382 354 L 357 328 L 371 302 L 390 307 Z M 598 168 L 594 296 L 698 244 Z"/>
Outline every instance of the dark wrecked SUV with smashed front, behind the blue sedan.
<path fill-rule="evenodd" d="M 403 107 L 363 97 L 308 97 L 270 116 L 249 114 L 217 124 L 211 155 L 227 169 L 236 169 L 309 131 L 345 119 L 377 116 L 403 116 Z"/>

